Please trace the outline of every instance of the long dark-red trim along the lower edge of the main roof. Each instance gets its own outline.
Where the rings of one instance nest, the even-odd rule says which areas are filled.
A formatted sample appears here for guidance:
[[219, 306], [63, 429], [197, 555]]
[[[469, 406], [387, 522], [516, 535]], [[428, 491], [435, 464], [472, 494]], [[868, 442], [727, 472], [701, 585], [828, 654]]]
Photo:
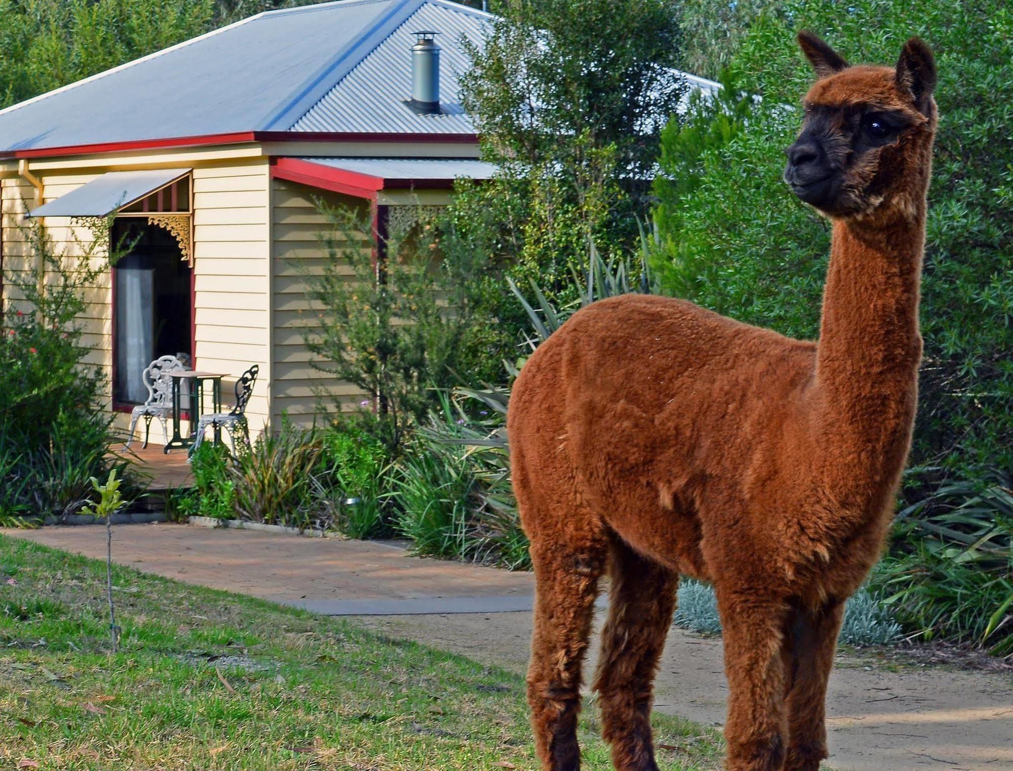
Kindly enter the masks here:
[[433, 142], [438, 144], [473, 145], [475, 134], [368, 134], [353, 132], [235, 132], [208, 134], [200, 137], [103, 142], [95, 145], [71, 145], [58, 148], [0, 151], [0, 158], [53, 158], [65, 155], [125, 153], [132, 150], [185, 148], [203, 145], [235, 145], [250, 142]]

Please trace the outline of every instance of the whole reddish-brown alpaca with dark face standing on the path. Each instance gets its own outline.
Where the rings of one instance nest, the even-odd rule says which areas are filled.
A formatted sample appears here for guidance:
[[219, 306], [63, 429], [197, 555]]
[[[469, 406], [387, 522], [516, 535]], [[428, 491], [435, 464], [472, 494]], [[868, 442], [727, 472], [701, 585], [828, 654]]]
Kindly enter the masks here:
[[580, 660], [612, 582], [595, 689], [615, 767], [652, 771], [651, 690], [679, 574], [713, 582], [731, 771], [814, 771], [845, 599], [876, 562], [908, 449], [935, 66], [820, 79], [785, 181], [833, 221], [819, 343], [663, 297], [575, 314], [525, 365], [508, 420], [538, 580], [528, 700], [542, 767], [579, 767]]

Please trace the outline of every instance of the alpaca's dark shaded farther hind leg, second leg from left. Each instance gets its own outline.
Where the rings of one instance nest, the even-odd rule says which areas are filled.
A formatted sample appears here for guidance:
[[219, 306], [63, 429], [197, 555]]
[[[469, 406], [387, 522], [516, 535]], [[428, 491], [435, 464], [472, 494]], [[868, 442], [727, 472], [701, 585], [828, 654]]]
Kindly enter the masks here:
[[676, 609], [679, 576], [615, 538], [612, 599], [595, 690], [619, 771], [657, 771], [650, 734], [654, 674]]

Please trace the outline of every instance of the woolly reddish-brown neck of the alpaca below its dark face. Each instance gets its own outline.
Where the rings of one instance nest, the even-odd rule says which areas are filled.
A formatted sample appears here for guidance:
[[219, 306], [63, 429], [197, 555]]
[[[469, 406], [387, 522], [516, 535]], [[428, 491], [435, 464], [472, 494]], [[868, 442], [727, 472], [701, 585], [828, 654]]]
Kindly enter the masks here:
[[814, 378], [819, 424], [831, 446], [886, 474], [900, 473], [915, 415], [924, 239], [924, 200], [915, 217], [885, 226], [834, 224]]

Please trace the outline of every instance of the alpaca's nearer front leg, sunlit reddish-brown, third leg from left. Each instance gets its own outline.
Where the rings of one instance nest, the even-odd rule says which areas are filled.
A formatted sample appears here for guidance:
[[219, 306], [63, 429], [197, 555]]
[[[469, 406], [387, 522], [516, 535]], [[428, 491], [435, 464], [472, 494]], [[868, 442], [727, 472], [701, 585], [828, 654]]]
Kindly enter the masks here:
[[781, 771], [787, 738], [781, 658], [787, 606], [774, 598], [722, 592], [720, 586], [717, 601], [728, 678], [727, 771]]

